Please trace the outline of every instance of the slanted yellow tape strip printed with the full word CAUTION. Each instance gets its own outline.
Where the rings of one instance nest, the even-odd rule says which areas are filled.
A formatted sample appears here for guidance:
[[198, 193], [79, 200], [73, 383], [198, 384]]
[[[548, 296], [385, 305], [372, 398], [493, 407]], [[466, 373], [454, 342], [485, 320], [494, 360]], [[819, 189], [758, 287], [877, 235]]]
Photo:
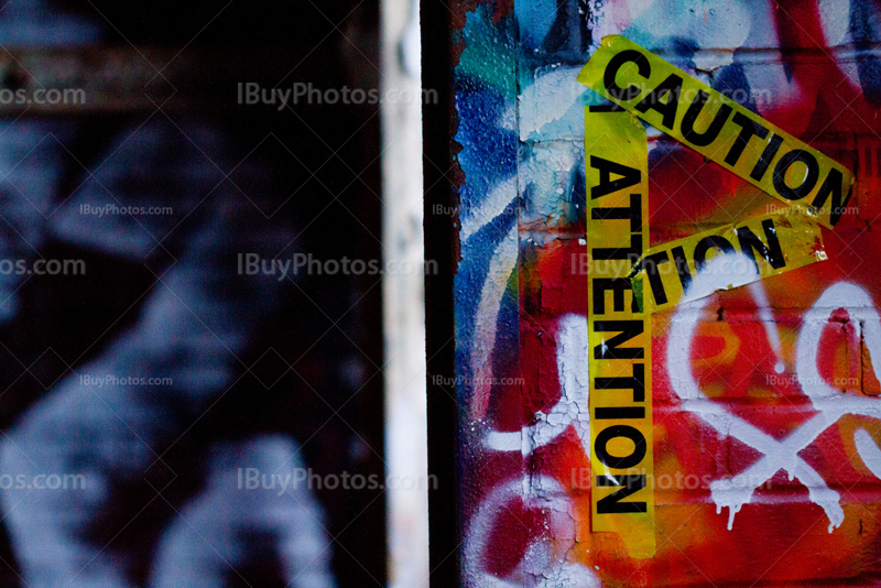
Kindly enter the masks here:
[[623, 36], [602, 37], [578, 81], [825, 226], [841, 218], [850, 171]]

